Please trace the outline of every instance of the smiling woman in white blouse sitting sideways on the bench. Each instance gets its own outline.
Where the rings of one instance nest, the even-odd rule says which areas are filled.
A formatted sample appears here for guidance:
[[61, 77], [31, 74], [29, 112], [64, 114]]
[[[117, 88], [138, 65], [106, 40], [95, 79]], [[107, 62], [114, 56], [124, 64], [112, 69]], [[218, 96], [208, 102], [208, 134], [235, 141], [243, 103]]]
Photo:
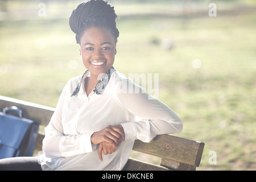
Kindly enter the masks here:
[[[116, 17], [102, 0], [81, 3], [71, 14], [69, 24], [87, 70], [65, 85], [45, 129], [43, 154], [37, 157], [43, 170], [122, 170], [136, 139], [150, 142], [183, 129], [174, 111], [113, 67]], [[31, 161], [22, 160], [24, 170]], [[0, 160], [0, 169], [8, 161]], [[15, 166], [15, 159], [10, 162]]]

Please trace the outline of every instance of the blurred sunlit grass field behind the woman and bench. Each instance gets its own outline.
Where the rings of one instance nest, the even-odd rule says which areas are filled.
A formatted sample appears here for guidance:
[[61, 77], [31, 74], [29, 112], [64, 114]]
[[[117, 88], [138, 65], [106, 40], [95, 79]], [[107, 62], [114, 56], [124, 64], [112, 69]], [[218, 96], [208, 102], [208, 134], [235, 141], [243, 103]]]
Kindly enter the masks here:
[[[68, 24], [81, 2], [0, 1], [1, 96], [56, 106], [85, 71]], [[255, 170], [256, 1], [109, 3], [120, 31], [114, 67], [159, 74], [159, 100], [184, 123], [176, 136], [205, 143], [197, 170]]]

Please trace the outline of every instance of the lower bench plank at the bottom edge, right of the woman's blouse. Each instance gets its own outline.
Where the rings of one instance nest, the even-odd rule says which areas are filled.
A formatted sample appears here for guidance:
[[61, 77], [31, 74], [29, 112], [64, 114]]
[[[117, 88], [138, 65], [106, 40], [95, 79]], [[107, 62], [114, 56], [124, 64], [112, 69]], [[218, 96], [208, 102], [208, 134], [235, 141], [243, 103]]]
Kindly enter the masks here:
[[170, 169], [129, 158], [125, 167], [123, 167], [123, 171], [170, 171]]

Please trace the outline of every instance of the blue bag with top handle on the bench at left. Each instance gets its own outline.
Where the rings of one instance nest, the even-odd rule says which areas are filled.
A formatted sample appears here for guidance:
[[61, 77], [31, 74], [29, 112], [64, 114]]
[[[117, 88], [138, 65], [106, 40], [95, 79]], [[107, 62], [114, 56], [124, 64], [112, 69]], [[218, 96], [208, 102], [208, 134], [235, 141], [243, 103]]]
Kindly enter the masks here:
[[[7, 114], [13, 111], [18, 117]], [[18, 107], [6, 107], [0, 112], [0, 159], [32, 156], [37, 137], [38, 124], [22, 118]]]

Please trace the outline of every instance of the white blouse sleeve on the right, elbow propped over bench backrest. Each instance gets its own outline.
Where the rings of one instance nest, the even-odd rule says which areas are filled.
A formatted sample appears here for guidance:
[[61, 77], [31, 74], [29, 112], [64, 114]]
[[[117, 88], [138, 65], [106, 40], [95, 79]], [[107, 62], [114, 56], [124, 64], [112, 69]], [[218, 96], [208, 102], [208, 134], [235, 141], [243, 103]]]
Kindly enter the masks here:
[[174, 111], [129, 79], [123, 79], [117, 86], [117, 100], [126, 110], [141, 118], [121, 123], [125, 140], [150, 142], [156, 135], [180, 133], [183, 129], [183, 123]]

